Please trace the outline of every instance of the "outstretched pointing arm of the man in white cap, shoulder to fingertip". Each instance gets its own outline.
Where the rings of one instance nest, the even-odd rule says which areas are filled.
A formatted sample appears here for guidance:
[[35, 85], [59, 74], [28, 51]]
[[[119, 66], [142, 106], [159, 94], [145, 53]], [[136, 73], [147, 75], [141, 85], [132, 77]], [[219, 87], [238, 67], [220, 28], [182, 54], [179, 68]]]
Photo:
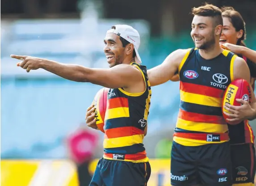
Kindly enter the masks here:
[[43, 68], [68, 80], [90, 82], [108, 88], [126, 88], [141, 79], [141, 72], [128, 64], [119, 64], [108, 69], [86, 68], [75, 64], [64, 64], [30, 56], [11, 55], [12, 58], [23, 60], [17, 65], [26, 69]]

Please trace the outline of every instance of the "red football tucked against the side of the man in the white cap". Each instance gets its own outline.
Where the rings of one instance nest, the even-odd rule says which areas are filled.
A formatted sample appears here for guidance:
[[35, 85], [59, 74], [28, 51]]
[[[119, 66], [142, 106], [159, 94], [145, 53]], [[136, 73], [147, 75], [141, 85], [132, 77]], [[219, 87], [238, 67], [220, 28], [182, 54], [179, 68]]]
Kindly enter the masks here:
[[104, 118], [107, 108], [107, 93], [109, 88], [102, 88], [94, 97], [96, 125], [100, 131], [104, 132]]

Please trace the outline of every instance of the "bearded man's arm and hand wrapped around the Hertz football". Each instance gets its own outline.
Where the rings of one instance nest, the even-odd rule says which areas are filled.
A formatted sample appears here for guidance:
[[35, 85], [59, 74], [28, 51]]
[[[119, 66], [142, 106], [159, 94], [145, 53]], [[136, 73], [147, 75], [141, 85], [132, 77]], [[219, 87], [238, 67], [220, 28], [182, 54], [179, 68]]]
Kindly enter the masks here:
[[[244, 79], [250, 84], [251, 75], [250, 70], [247, 66], [247, 63], [242, 59], [237, 57], [234, 62], [234, 80], [237, 79]], [[226, 104], [225, 108], [233, 114], [228, 114], [225, 112], [226, 115], [233, 117], [232, 119], [227, 119], [230, 121], [239, 121], [244, 119], [253, 120], [256, 118], [256, 98], [250, 85], [251, 93], [252, 93], [252, 103], [249, 105], [247, 101], [242, 99], [237, 99], [242, 106], [231, 106]]]

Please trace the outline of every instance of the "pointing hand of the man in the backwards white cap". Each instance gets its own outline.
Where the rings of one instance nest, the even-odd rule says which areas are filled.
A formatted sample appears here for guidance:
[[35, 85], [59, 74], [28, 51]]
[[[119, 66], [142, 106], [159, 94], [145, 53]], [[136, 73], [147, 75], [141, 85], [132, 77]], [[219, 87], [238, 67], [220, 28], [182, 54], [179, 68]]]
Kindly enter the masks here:
[[26, 69], [27, 72], [40, 68], [41, 62], [43, 61], [41, 58], [26, 55], [11, 55], [11, 58], [23, 60], [22, 62], [17, 63], [17, 66]]

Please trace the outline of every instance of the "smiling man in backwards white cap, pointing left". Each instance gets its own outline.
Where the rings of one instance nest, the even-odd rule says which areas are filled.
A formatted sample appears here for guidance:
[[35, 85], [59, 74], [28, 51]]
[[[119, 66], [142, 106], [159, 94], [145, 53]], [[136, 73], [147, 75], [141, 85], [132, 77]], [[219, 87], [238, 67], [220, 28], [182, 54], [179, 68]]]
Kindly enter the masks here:
[[104, 155], [99, 160], [90, 186], [146, 185], [151, 169], [143, 146], [147, 131], [151, 89], [145, 66], [139, 65], [140, 35], [128, 25], [115, 25], [107, 31], [104, 52], [109, 69], [30, 56], [11, 55], [23, 60], [26, 69], [43, 68], [68, 80], [90, 82], [110, 88], [105, 114]]

